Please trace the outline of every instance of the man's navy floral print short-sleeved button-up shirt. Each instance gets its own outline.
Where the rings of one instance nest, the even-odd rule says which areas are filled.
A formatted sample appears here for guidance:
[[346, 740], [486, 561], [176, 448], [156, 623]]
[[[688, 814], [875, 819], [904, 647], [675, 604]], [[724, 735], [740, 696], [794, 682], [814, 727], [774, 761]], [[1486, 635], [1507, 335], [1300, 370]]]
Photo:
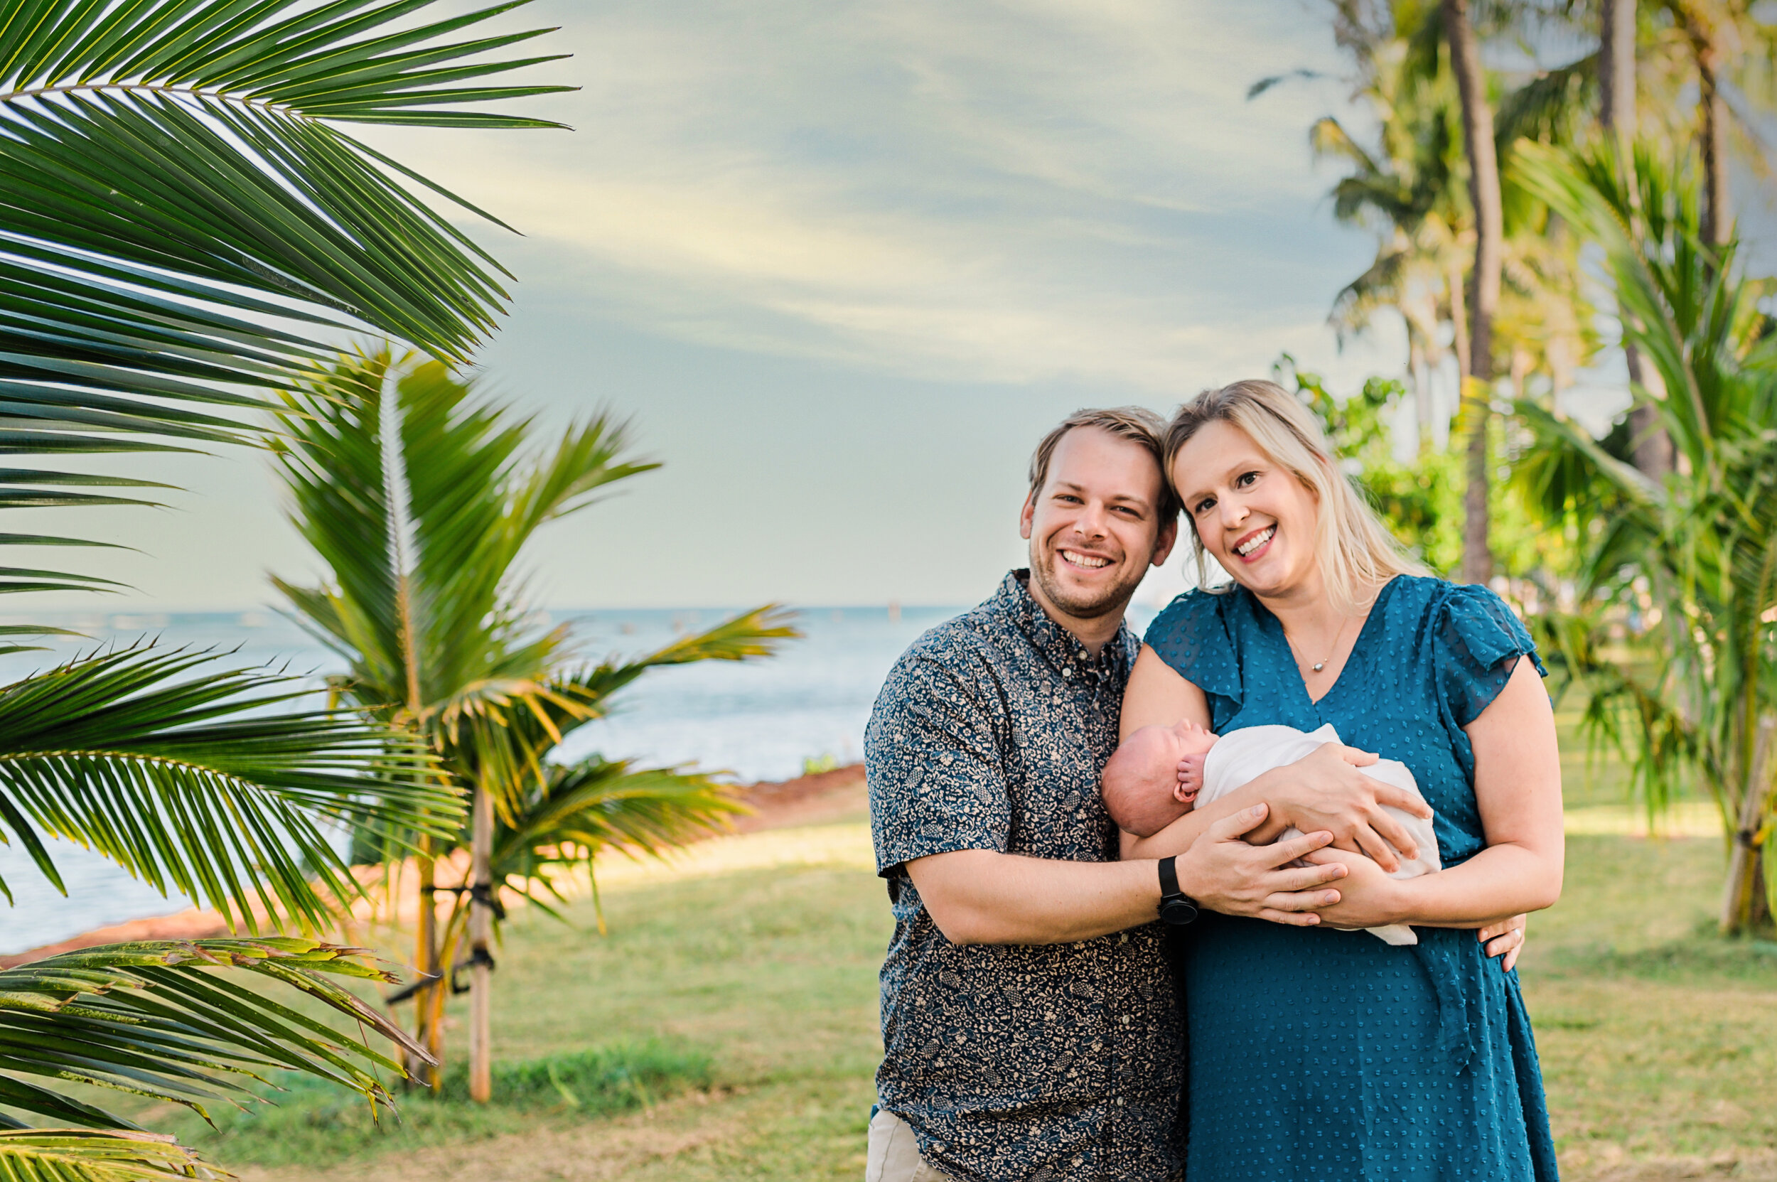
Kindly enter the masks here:
[[876, 1091], [920, 1154], [968, 1182], [1178, 1171], [1182, 1022], [1159, 924], [1048, 946], [951, 944], [903, 864], [952, 850], [1107, 862], [1098, 777], [1136, 658], [1095, 659], [1006, 576], [888, 674], [864, 757], [894, 938], [881, 970]]

